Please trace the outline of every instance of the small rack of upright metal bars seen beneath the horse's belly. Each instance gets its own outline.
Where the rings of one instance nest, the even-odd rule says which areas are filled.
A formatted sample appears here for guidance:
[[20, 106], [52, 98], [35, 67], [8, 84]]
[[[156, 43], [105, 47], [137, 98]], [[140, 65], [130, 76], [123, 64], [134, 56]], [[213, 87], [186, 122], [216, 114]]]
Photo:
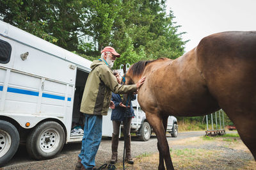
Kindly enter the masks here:
[[[215, 114], [215, 123], [214, 123], [213, 116], [212, 116], [213, 114]], [[210, 118], [208, 118], [208, 116]], [[211, 129], [209, 127], [209, 123], [211, 123]], [[216, 111], [214, 113], [206, 115], [206, 125], [207, 125], [207, 130], [205, 131], [205, 133], [206, 133], [205, 135], [223, 135], [223, 134], [225, 134], [224, 111], [222, 109], [220, 109], [219, 111]]]

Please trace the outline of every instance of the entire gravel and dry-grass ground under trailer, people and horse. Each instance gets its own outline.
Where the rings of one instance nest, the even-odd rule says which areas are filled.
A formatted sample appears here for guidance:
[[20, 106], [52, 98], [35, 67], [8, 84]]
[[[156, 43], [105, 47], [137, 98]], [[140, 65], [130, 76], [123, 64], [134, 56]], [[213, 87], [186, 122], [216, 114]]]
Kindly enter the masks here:
[[[96, 167], [109, 163], [109, 142], [102, 141], [96, 156]], [[255, 160], [239, 137], [205, 140], [201, 137], [168, 141], [175, 169], [256, 169]], [[122, 166], [122, 142], [118, 147], [117, 169]], [[136, 152], [140, 150], [139, 152]], [[141, 152], [143, 150], [143, 152]], [[74, 169], [79, 150], [62, 154], [51, 160], [16, 164], [3, 169]], [[125, 164], [125, 169], [157, 169], [158, 151], [156, 139], [147, 143], [132, 141], [134, 165]]]

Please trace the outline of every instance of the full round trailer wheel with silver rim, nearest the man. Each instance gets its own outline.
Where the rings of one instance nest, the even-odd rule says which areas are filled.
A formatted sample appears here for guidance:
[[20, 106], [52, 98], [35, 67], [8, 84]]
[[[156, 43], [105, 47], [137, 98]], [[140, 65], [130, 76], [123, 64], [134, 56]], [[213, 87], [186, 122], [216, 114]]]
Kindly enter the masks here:
[[53, 158], [63, 148], [65, 132], [59, 123], [45, 121], [29, 134], [26, 147], [31, 157], [37, 160]]

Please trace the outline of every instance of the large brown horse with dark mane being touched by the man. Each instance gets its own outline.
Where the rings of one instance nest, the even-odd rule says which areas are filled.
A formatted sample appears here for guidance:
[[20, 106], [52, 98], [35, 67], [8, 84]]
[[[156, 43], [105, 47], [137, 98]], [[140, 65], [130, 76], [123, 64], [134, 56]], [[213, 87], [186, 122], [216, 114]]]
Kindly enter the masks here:
[[145, 76], [138, 102], [157, 135], [158, 169], [173, 169], [166, 140], [169, 115], [202, 116], [223, 109], [256, 158], [256, 31], [203, 38], [177, 59], [140, 61], [125, 84]]

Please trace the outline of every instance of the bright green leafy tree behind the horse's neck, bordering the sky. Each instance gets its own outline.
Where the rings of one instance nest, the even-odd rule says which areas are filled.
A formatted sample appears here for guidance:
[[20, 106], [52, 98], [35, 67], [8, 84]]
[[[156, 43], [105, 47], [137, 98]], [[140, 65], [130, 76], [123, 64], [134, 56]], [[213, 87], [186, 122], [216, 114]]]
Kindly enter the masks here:
[[[177, 58], [184, 54], [184, 45], [174, 26], [173, 13], [166, 15], [165, 1], [122, 1], [113, 26], [111, 44], [122, 55], [115, 64], [130, 64], [141, 59]], [[129, 41], [126, 39], [129, 38]], [[130, 49], [131, 52], [129, 52]], [[130, 54], [129, 54], [130, 53]]]

